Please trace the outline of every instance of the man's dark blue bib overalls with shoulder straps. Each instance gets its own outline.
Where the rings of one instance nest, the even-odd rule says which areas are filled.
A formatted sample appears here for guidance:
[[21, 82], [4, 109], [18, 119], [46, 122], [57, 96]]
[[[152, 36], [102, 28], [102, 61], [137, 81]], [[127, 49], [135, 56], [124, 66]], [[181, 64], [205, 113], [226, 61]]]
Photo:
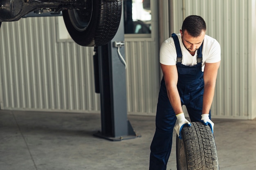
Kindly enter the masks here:
[[[177, 35], [173, 33], [172, 37], [177, 52], [177, 88], [181, 104], [186, 106], [191, 121], [201, 121], [204, 93], [202, 45], [197, 53], [198, 64], [195, 66], [185, 66], [181, 64], [182, 52]], [[209, 118], [211, 119], [211, 111], [209, 112]], [[171, 154], [175, 122], [176, 116], [167, 96], [164, 78], [162, 78], [155, 120], [156, 130], [150, 146], [149, 170], [166, 170]]]

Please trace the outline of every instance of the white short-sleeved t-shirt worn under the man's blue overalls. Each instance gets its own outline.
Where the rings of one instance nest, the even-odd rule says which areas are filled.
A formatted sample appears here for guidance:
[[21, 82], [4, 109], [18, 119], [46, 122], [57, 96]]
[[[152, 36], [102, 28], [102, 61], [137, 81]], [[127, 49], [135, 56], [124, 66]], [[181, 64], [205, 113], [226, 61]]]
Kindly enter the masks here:
[[[197, 64], [197, 51], [192, 56], [182, 43], [181, 35], [177, 34], [180, 41], [180, 48], [182, 51], [182, 64], [185, 66], [194, 66]], [[173, 38], [165, 40], [160, 48], [160, 63], [164, 65], [175, 65], [177, 60], [177, 53]], [[220, 44], [214, 38], [208, 35], [204, 36], [202, 48], [202, 71], [204, 71], [205, 63], [215, 63], [220, 61]]]

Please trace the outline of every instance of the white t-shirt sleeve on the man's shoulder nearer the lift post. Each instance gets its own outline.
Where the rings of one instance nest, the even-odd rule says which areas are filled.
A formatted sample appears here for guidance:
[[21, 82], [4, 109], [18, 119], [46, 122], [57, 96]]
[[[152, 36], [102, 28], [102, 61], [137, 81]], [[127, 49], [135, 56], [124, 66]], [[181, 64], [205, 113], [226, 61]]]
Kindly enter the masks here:
[[175, 65], [176, 64], [176, 49], [175, 46], [170, 45], [167, 41], [164, 41], [160, 48], [159, 61], [164, 65]]

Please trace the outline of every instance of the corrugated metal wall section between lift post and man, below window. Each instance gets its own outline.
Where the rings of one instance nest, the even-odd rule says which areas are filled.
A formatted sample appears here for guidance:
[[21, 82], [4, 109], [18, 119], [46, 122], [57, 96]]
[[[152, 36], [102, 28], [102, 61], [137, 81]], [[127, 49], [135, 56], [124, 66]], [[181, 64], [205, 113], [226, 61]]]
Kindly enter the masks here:
[[126, 41], [128, 112], [155, 115], [159, 92], [157, 42]]

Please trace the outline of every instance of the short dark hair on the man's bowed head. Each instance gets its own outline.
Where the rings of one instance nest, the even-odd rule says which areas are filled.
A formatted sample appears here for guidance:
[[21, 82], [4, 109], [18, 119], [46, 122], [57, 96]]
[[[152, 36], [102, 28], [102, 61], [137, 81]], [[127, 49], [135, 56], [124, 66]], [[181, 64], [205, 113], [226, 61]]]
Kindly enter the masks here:
[[204, 19], [198, 15], [189, 15], [185, 18], [182, 24], [182, 33], [185, 30], [193, 37], [200, 36], [202, 30], [206, 31]]

